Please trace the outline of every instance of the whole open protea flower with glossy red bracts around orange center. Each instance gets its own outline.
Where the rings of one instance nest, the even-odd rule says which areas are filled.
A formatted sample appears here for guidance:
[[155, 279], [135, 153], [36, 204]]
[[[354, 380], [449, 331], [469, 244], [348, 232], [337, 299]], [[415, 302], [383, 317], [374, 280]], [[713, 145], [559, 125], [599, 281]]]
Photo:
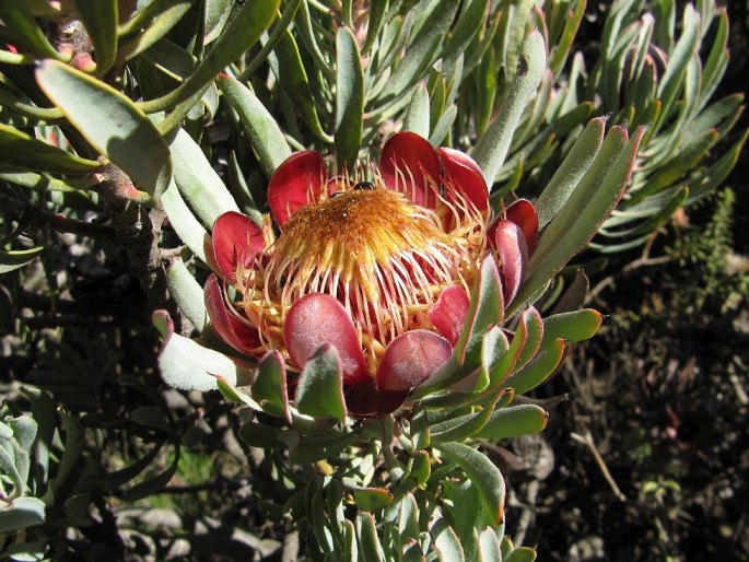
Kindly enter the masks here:
[[270, 180], [262, 226], [236, 212], [213, 226], [214, 267], [239, 298], [206, 284], [211, 323], [236, 350], [278, 350], [301, 371], [336, 348], [349, 412], [383, 414], [449, 358], [488, 251], [505, 303], [536, 242], [534, 207], [494, 218], [468, 155], [434, 150], [412, 132], [391, 137], [379, 167], [330, 177], [318, 152], [292, 154]]

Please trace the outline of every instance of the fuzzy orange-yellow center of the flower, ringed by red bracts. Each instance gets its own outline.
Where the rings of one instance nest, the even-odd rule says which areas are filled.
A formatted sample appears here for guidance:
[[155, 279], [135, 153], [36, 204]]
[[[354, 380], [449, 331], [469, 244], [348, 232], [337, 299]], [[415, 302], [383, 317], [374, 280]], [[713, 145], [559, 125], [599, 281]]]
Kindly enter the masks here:
[[[476, 219], [447, 233], [434, 211], [401, 194], [382, 185], [347, 187], [284, 223], [245, 276], [245, 312], [269, 348], [283, 349], [291, 305], [305, 294], [330, 294], [350, 314], [374, 372], [393, 339], [431, 326], [426, 313], [442, 289], [468, 289], [483, 251], [483, 222]], [[471, 227], [480, 244], [466, 236]]]

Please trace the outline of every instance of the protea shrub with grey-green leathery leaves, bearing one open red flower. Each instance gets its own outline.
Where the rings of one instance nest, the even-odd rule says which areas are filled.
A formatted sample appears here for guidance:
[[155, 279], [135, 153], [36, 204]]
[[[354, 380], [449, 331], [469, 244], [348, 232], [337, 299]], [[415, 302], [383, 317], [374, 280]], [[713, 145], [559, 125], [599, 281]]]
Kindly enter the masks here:
[[[522, 395], [600, 325], [560, 272], [620, 199], [639, 243], [740, 148], [698, 166], [739, 112], [690, 96], [725, 13], [689, 7], [674, 47], [674, 3], [639, 33], [641, 4], [584, 87], [582, 0], [3, 2], [0, 178], [122, 247], [163, 382], [236, 402], [313, 559], [531, 560], [481, 444], [541, 431]], [[653, 160], [692, 121], [697, 160]], [[2, 272], [44, 250], [27, 230]]]

